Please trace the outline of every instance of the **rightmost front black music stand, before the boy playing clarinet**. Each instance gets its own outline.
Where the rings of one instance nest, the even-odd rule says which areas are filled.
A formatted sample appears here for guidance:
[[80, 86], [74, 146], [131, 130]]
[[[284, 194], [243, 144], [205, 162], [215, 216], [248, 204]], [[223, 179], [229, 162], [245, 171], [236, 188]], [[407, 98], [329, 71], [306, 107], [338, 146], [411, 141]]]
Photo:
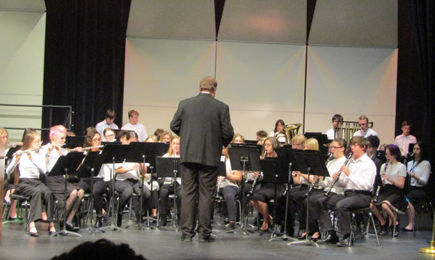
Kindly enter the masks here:
[[[326, 168], [324, 161], [322, 160], [322, 155], [319, 151], [305, 150], [305, 151], [293, 151], [294, 158], [299, 164], [301, 172], [306, 172], [308, 174], [308, 180], [310, 175], [317, 175], [320, 177], [329, 177], [329, 171]], [[306, 169], [306, 171], [304, 171]], [[308, 216], [309, 216], [309, 204], [310, 204], [310, 185], [308, 185], [306, 193], [306, 232], [307, 236], [305, 240], [294, 241], [287, 243], [287, 245], [313, 245], [319, 247], [317, 243], [308, 238]], [[299, 227], [300, 229], [301, 227]]]

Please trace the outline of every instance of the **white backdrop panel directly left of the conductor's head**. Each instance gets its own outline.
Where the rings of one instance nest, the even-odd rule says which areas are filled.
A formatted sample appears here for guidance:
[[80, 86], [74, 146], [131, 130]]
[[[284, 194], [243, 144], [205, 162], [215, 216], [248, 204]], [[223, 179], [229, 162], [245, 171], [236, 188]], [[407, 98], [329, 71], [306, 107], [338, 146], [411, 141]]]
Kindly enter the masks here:
[[167, 130], [178, 102], [214, 75], [215, 52], [214, 41], [127, 38], [122, 123], [135, 109], [148, 133]]

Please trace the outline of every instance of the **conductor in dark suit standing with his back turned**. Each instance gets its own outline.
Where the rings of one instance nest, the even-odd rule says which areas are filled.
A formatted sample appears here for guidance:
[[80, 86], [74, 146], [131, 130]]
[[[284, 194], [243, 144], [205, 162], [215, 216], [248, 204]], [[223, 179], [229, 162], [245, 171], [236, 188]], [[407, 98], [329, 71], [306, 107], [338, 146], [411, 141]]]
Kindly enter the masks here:
[[183, 183], [180, 239], [186, 242], [191, 242], [195, 236], [198, 192], [199, 242], [214, 240], [211, 219], [221, 151], [234, 135], [228, 105], [214, 98], [216, 88], [213, 77], [203, 78], [200, 93], [180, 101], [171, 121], [171, 130], [180, 135]]

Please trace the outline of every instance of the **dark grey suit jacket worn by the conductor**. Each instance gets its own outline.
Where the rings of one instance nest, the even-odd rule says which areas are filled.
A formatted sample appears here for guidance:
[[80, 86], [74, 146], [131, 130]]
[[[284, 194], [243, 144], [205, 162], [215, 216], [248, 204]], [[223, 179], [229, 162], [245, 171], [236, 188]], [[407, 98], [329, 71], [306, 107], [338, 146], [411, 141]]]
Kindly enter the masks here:
[[212, 167], [219, 167], [222, 145], [230, 144], [234, 135], [228, 105], [209, 93], [181, 100], [171, 130], [180, 135], [181, 163]]

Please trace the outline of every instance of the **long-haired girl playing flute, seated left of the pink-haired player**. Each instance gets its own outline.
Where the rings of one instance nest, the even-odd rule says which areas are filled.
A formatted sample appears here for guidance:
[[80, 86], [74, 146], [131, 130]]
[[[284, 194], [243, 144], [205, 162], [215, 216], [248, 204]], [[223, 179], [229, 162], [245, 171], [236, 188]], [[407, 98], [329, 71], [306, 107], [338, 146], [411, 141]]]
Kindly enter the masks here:
[[9, 175], [18, 167], [19, 181], [15, 193], [31, 197], [28, 227], [30, 236], [39, 236], [35, 222], [41, 220], [43, 206], [49, 221], [49, 234], [56, 232], [53, 222], [54, 197], [52, 191], [40, 179], [40, 174], [45, 174], [47, 171], [45, 158], [39, 151], [35, 151], [39, 150], [40, 146], [41, 137], [38, 132], [25, 134], [22, 147], [6, 169], [6, 174]]

